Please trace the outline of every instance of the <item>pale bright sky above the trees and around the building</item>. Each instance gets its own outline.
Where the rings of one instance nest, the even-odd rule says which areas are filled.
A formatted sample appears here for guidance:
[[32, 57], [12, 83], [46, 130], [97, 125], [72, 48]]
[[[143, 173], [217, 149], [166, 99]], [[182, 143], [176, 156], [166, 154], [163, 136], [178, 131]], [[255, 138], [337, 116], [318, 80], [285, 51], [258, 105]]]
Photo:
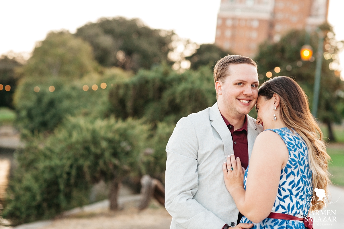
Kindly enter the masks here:
[[[214, 43], [221, 0], [11, 0], [0, 7], [0, 54], [30, 53], [49, 31], [74, 33], [101, 17], [140, 18], [155, 29], [174, 30], [198, 44]], [[328, 21], [344, 40], [344, 0], [330, 0]], [[340, 55], [344, 70], [344, 52]], [[344, 71], [342, 71], [344, 80]]]

